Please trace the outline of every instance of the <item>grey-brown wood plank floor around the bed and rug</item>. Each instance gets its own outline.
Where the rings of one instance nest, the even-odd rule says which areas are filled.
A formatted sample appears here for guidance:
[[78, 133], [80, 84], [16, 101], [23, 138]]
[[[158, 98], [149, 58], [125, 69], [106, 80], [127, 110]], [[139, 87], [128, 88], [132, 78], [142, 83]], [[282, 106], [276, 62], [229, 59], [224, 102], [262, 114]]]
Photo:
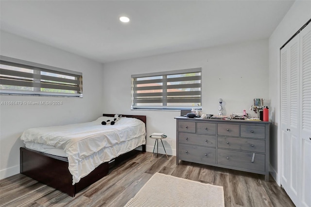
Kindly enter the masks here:
[[175, 156], [167, 159], [165, 155], [159, 155], [151, 162], [151, 155], [141, 153], [122, 165], [114, 166], [107, 176], [80, 191], [74, 198], [22, 174], [2, 179], [0, 206], [122, 207], [154, 173], [159, 172], [223, 186], [226, 207], [294, 207], [273, 178], [265, 182], [263, 175], [185, 161], [176, 165]]

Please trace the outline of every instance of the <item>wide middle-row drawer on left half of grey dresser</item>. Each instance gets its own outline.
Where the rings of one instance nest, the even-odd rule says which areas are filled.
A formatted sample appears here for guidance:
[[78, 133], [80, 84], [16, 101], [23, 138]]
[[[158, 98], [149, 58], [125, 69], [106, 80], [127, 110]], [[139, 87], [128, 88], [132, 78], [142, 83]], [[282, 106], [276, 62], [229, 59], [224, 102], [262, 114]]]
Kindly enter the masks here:
[[204, 147], [216, 147], [216, 136], [198, 134], [178, 134], [179, 143], [196, 144]]

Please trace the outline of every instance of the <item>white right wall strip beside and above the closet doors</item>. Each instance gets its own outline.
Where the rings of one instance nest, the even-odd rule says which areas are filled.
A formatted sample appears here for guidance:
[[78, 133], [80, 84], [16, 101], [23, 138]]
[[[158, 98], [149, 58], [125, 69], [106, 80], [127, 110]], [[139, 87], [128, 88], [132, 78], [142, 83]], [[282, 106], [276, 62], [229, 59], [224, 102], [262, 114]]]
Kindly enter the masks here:
[[294, 2], [291, 9], [282, 19], [276, 30], [269, 38], [269, 93], [271, 99], [271, 118], [272, 137], [270, 150], [270, 165], [272, 175], [274, 176], [278, 185], [280, 185], [280, 131], [278, 126], [280, 124], [280, 48], [285, 42], [293, 36], [309, 19], [311, 18], [311, 1], [297, 0]]

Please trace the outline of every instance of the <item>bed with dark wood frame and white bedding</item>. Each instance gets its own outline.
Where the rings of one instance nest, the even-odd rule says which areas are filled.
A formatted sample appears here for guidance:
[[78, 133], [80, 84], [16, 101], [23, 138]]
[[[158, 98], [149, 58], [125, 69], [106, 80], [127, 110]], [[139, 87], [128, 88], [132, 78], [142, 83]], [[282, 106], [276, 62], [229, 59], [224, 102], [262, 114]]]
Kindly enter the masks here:
[[[91, 131], [83, 131], [84, 125], [68, 125], [70, 132], [74, 127], [77, 127], [77, 133], [75, 134], [78, 135], [78, 138], [74, 137], [74, 141], [72, 141], [72, 139], [69, 139], [71, 135], [66, 134], [67, 131], [66, 133], [63, 133], [64, 136], [60, 136], [60, 133], [56, 133], [55, 136], [55, 133], [53, 133], [54, 137], [52, 137], [51, 134], [49, 134], [49, 130], [55, 131], [55, 128], [53, 127], [46, 127], [43, 129], [31, 129], [30, 131], [26, 130], [21, 136], [21, 139], [24, 140], [25, 143], [33, 141], [34, 137], [38, 137], [34, 142], [42, 142], [40, 144], [51, 144], [55, 148], [63, 148], [65, 156], [59, 155], [57, 153], [48, 154], [50, 153], [50, 151], [48, 153], [46, 151], [39, 152], [36, 150], [35, 147], [29, 147], [31, 145], [29, 145], [28, 143], [26, 144], [26, 147], [28, 146], [30, 149], [26, 147], [20, 148], [20, 173], [25, 174], [41, 183], [49, 185], [74, 197], [77, 192], [83, 190], [87, 186], [93, 184], [94, 182], [98, 181], [106, 174], [108, 174], [109, 163], [111, 163], [112, 161], [120, 162], [123, 157], [127, 158], [129, 154], [135, 154], [137, 152], [137, 150], [135, 149], [138, 146], [142, 147], [142, 151], [138, 152], [146, 152], [146, 116], [121, 115], [122, 118], [119, 121], [116, 121], [113, 126], [105, 126], [99, 122], [104, 120], [105, 117], [111, 117], [111, 119], [113, 120], [114, 116], [114, 114], [103, 114], [103, 117], [101, 119], [99, 118], [99, 120], [96, 120], [96, 124], [93, 123], [94, 121], [87, 122], [86, 124], [91, 124]], [[119, 130], [118, 127], [121, 127], [121, 124], [129, 123], [129, 118], [136, 118], [131, 120], [134, 120], [136, 125], [140, 128], [141, 125], [143, 125], [144, 133], [143, 131], [140, 132], [140, 128], [138, 130], [134, 127], [123, 126], [123, 128], [129, 128], [126, 130], [129, 130], [130, 132], [123, 132], [122, 128]], [[67, 128], [66, 130], [68, 130]], [[121, 145], [121, 148], [114, 147], [114, 144], [111, 144], [111, 142], [115, 142], [113, 141], [114, 139], [110, 139], [109, 136], [106, 134], [102, 135], [102, 132], [97, 131], [99, 128], [105, 128], [105, 130], [108, 131], [109, 136], [111, 136], [112, 134], [116, 135], [118, 140], [116, 141], [117, 145]], [[44, 136], [46, 136], [45, 139], [43, 139]], [[137, 141], [138, 136], [139, 141]], [[59, 139], [60, 137], [62, 137], [62, 139]], [[104, 137], [105, 140], [105, 142], [103, 142], [104, 148], [94, 150], [94, 147], [99, 148], [97, 146], [102, 144], [98, 142], [99, 140], [101, 140], [101, 137]], [[95, 144], [93, 143], [87, 145], [86, 139], [92, 139], [93, 141], [95, 140]], [[132, 140], [134, 140], [134, 142]], [[127, 143], [129, 141], [131, 141], [130, 144]], [[73, 148], [72, 146], [78, 147], [80, 151], [77, 151], [76, 148]], [[94, 154], [90, 155], [88, 152], [88, 148], [91, 148], [91, 150], [94, 151]], [[81, 149], [85, 151], [81, 151]], [[106, 152], [113, 151], [115, 152], [111, 155], [108, 153], [108, 155], [106, 156]], [[71, 154], [72, 152], [73, 155]], [[73, 163], [72, 157], [78, 157], [78, 161], [74, 161], [77, 163]], [[84, 159], [86, 159], [85, 162]], [[74, 167], [73, 170], [72, 167]], [[92, 169], [92, 167], [94, 169]], [[75, 170], [78, 171], [77, 174]], [[82, 173], [80, 172], [80, 170]]]

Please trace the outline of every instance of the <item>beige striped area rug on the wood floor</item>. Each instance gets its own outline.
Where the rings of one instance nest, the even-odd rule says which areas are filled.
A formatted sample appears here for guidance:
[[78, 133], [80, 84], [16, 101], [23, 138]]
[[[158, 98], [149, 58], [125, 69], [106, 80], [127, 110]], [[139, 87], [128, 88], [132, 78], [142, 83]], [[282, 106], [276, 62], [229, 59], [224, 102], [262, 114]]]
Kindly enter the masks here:
[[224, 207], [224, 188], [155, 173], [125, 207]]

